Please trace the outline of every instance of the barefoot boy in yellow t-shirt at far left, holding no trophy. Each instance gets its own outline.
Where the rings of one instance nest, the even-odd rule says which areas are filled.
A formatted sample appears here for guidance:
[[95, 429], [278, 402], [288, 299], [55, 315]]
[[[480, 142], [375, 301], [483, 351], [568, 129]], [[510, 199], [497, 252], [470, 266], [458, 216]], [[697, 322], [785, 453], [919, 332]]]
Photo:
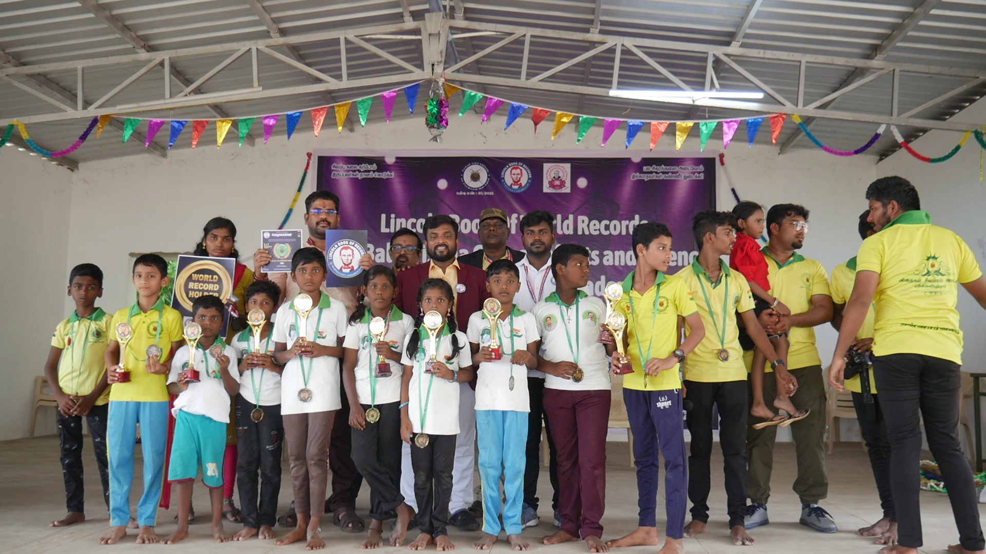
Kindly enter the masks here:
[[109, 389], [106, 388], [106, 363], [103, 354], [109, 342], [112, 318], [96, 299], [103, 296], [103, 271], [92, 263], [72, 268], [68, 278], [68, 296], [75, 302], [75, 312], [58, 323], [51, 337], [51, 351], [44, 364], [44, 377], [58, 401], [58, 445], [62, 477], [65, 479], [63, 519], [51, 521], [61, 527], [85, 521], [85, 489], [82, 470], [82, 418], [89, 423], [93, 453], [100, 469], [103, 497], [109, 506], [109, 474], [106, 470], [106, 415]]

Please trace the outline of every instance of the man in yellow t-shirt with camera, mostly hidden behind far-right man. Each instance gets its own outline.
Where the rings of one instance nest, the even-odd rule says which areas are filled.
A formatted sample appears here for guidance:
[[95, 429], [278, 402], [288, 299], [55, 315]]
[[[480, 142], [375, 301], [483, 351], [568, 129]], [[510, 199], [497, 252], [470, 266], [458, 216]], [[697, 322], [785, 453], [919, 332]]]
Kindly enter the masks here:
[[[859, 232], [865, 241], [875, 234], [877, 229], [868, 221], [870, 210], [860, 214]], [[842, 312], [846, 302], [853, 293], [853, 283], [856, 281], [856, 256], [849, 261], [840, 263], [832, 270], [832, 326], [839, 330], [842, 324]], [[856, 333], [853, 348], [869, 358], [873, 348], [873, 307], [866, 313], [863, 326]], [[880, 508], [883, 517], [876, 523], [862, 527], [856, 532], [863, 536], [876, 536], [878, 544], [893, 544], [897, 539], [897, 518], [893, 510], [893, 494], [890, 491], [890, 442], [886, 437], [886, 422], [880, 413], [880, 401], [877, 398], [877, 385], [873, 380], [873, 372], [868, 367], [859, 375], [845, 381], [845, 387], [853, 393], [853, 407], [856, 408], [856, 420], [860, 424], [860, 434], [870, 454], [870, 467], [877, 482], [877, 493], [880, 496]]]

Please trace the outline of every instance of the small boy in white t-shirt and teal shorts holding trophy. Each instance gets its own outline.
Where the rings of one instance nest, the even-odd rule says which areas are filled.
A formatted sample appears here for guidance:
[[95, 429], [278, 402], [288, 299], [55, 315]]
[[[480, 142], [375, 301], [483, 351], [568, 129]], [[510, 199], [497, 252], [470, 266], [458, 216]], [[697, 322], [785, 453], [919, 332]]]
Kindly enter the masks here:
[[[223, 530], [223, 455], [226, 452], [226, 426], [230, 423], [230, 396], [240, 389], [237, 353], [219, 333], [223, 330], [226, 307], [219, 297], [203, 295], [191, 306], [192, 320], [202, 328], [195, 352], [182, 346], [172, 359], [168, 392], [177, 394], [172, 415], [175, 437], [168, 466], [168, 480], [176, 483], [178, 528], [166, 538], [175, 544], [188, 537], [191, 488], [202, 468], [202, 482], [209, 487], [212, 502], [212, 536], [216, 542], [232, 537]], [[185, 380], [189, 358], [199, 372], [199, 381]]]

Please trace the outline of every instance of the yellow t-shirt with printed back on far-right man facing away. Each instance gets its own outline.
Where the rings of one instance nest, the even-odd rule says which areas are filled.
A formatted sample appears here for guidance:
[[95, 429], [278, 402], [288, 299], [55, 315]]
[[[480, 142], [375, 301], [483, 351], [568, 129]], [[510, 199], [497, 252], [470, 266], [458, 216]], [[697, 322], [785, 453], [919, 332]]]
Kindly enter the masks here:
[[921, 354], [962, 363], [958, 284], [982, 277], [969, 246], [931, 224], [921, 210], [904, 212], [860, 246], [856, 271], [880, 274], [873, 352]]

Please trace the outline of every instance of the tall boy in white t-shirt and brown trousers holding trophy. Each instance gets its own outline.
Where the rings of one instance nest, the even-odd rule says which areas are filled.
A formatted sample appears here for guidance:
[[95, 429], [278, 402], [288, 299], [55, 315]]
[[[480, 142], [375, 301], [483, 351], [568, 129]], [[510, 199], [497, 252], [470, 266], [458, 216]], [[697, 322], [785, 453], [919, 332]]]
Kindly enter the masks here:
[[328, 438], [335, 410], [342, 405], [339, 358], [346, 333], [346, 309], [320, 291], [325, 281], [325, 255], [318, 248], [295, 252], [291, 278], [301, 289], [298, 296], [311, 297], [314, 308], [304, 329], [294, 308], [298, 296], [282, 304], [274, 315], [274, 361], [284, 364], [281, 418], [298, 515], [298, 526], [277, 539], [277, 544], [307, 539], [306, 548], [317, 550], [325, 547], [318, 525], [325, 510]]

